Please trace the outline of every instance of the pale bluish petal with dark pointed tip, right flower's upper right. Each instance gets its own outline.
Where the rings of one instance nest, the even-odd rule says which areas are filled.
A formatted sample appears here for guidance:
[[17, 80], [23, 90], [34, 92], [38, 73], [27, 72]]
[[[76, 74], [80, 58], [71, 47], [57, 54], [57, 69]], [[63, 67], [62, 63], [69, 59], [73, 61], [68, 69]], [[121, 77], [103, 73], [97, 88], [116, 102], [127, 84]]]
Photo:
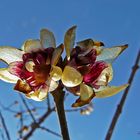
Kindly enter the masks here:
[[101, 54], [99, 54], [97, 56], [96, 61], [106, 61], [109, 63], [112, 63], [126, 48], [128, 47], [128, 45], [124, 45], [124, 46], [116, 46], [116, 47], [112, 47], [112, 48], [104, 48], [101, 52]]

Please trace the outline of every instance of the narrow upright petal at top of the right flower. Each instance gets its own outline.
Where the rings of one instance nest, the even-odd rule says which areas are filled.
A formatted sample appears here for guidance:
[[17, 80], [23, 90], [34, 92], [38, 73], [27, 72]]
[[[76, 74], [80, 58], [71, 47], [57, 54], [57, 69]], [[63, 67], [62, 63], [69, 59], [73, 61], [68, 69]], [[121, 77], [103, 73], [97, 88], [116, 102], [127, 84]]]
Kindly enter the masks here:
[[75, 43], [75, 30], [76, 26], [71, 27], [66, 33], [64, 37], [64, 46], [66, 50], [67, 59], [70, 59], [70, 52], [74, 47]]

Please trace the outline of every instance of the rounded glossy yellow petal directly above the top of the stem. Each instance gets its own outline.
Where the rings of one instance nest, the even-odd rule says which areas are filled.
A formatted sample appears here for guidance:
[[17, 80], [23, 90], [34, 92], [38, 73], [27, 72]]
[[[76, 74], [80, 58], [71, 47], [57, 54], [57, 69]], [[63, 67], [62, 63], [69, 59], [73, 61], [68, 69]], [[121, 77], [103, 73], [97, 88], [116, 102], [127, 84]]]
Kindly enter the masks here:
[[62, 74], [62, 82], [67, 87], [78, 86], [83, 80], [82, 75], [73, 67], [66, 66]]

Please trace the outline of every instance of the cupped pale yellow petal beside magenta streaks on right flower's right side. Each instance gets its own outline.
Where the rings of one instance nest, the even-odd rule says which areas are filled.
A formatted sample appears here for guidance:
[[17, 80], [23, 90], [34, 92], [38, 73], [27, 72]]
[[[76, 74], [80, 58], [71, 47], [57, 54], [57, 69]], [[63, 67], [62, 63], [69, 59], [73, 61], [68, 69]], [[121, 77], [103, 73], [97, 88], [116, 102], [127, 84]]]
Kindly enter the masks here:
[[96, 85], [106, 86], [113, 78], [113, 69], [112, 65], [108, 64], [108, 67], [105, 68], [98, 78]]

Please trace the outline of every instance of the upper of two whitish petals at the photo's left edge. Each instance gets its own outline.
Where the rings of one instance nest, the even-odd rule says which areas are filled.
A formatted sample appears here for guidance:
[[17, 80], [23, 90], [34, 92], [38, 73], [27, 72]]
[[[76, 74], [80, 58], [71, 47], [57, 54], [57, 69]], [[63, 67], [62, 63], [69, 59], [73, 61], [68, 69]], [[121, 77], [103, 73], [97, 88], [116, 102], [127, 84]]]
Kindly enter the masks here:
[[22, 61], [23, 51], [12, 47], [0, 47], [0, 60], [7, 64], [14, 61]]

